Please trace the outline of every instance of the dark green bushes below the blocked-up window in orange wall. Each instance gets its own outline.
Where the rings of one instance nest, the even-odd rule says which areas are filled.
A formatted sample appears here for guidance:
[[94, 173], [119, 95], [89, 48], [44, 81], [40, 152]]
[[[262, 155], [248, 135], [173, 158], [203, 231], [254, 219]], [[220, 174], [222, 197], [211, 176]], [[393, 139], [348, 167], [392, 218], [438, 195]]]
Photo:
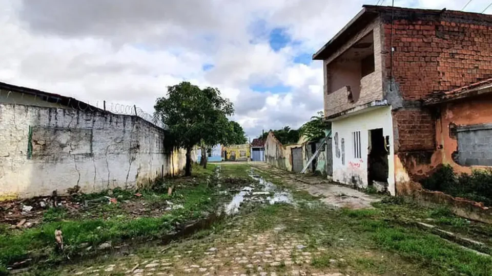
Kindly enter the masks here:
[[421, 181], [422, 187], [431, 191], [483, 202], [492, 206], [492, 170], [474, 170], [471, 174], [457, 174], [449, 165], [438, 169]]

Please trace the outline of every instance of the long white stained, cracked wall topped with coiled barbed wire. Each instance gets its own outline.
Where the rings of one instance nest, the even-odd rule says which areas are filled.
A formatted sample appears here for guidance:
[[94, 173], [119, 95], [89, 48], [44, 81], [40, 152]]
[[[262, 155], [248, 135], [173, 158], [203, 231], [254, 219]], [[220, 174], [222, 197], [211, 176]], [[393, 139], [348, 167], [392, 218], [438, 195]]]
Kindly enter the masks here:
[[145, 186], [177, 174], [183, 150], [166, 153], [164, 130], [134, 116], [0, 104], [0, 197]]

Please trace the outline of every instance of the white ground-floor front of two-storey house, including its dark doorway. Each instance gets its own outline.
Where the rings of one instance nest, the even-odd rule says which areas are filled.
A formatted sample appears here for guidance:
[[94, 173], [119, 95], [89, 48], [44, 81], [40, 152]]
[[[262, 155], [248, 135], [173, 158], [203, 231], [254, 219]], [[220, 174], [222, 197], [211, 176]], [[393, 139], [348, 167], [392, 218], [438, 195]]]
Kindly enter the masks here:
[[374, 180], [395, 190], [391, 107], [338, 117], [332, 121], [332, 135], [334, 181], [366, 188]]

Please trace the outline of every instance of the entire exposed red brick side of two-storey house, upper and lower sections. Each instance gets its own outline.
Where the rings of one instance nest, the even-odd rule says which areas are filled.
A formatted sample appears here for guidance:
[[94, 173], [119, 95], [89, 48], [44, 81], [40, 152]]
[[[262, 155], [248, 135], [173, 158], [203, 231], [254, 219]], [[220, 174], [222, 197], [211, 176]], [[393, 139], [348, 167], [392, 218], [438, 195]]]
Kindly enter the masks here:
[[[462, 12], [396, 9], [381, 13], [383, 76], [403, 107], [393, 112], [395, 152], [433, 151], [435, 120], [420, 101], [433, 93], [492, 77], [492, 16]], [[391, 93], [391, 92], [388, 92]]]

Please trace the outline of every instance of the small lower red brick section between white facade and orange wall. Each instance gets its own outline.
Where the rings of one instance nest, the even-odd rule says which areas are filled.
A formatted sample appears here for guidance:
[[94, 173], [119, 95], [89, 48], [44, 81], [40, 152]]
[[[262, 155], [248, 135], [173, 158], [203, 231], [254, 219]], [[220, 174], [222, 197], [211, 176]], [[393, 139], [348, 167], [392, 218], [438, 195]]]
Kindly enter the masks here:
[[393, 120], [398, 124], [398, 144], [395, 145], [395, 152], [435, 149], [435, 121], [428, 111], [395, 110]]

